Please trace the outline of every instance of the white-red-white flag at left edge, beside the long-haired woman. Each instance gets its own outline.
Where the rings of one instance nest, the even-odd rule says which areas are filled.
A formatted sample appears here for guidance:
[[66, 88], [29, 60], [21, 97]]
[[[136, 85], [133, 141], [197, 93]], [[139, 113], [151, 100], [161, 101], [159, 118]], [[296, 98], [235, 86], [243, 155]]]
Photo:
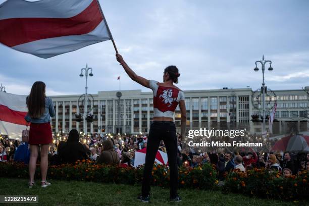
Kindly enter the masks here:
[[10, 139], [21, 140], [26, 128], [27, 105], [25, 95], [0, 92], [0, 133]]

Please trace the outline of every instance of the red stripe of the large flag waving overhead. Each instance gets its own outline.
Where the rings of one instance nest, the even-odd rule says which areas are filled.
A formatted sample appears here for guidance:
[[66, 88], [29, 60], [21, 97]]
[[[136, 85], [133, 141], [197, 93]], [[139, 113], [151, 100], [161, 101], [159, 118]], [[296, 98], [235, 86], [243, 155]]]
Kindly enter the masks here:
[[45, 38], [91, 32], [103, 20], [96, 0], [71, 18], [13, 18], [0, 20], [0, 42], [16, 46]]

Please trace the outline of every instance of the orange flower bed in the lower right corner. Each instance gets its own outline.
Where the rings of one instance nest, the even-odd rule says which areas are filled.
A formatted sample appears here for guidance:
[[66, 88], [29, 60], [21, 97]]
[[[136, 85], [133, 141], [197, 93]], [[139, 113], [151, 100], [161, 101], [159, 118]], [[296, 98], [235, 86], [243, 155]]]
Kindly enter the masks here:
[[254, 168], [246, 173], [234, 170], [226, 177], [224, 190], [262, 198], [305, 199], [309, 194], [308, 181], [306, 171], [285, 178], [265, 169]]

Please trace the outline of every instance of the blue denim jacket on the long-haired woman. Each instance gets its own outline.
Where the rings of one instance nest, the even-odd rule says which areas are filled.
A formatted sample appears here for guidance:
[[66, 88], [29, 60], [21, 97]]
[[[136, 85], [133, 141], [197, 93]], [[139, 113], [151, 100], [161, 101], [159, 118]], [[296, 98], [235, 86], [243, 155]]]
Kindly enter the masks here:
[[31, 118], [28, 114], [25, 116], [25, 120], [31, 123], [46, 123], [50, 122], [50, 117], [55, 117], [55, 109], [53, 106], [53, 101], [49, 97], [45, 97], [45, 112], [40, 118]]

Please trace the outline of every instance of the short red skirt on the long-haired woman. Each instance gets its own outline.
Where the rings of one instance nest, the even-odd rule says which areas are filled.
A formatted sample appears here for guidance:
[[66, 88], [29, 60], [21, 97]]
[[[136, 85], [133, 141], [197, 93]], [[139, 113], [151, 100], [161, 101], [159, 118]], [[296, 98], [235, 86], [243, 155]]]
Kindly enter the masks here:
[[29, 144], [50, 144], [53, 143], [52, 127], [50, 122], [30, 124]]

